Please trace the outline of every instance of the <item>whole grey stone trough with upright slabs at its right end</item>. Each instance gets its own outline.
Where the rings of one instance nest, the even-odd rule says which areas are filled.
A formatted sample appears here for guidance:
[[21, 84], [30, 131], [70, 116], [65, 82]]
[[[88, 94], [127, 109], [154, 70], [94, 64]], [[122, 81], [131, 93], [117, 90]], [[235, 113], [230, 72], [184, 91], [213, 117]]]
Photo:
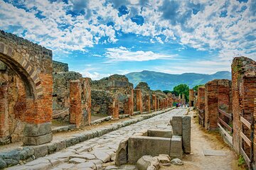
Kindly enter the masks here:
[[120, 142], [115, 164], [136, 164], [144, 155], [165, 154], [171, 159], [182, 159], [183, 153], [191, 152], [191, 117], [174, 116], [170, 125], [163, 130], [142, 130]]

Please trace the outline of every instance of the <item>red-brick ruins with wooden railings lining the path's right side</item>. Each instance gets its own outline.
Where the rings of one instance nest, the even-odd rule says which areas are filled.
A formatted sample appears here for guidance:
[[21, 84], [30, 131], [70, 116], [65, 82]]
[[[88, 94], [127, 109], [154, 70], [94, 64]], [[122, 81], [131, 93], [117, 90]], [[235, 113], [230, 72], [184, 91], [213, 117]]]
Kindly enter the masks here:
[[235, 57], [231, 68], [232, 81], [215, 79], [198, 88], [199, 124], [207, 130], [220, 130], [223, 140], [241, 154], [252, 169], [256, 161], [256, 62]]

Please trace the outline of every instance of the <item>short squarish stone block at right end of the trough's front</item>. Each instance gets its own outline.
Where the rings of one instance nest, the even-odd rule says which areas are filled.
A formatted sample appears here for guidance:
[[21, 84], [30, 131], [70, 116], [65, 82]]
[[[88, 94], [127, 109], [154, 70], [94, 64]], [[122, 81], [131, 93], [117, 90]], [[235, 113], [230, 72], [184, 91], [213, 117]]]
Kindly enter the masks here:
[[[161, 146], [161, 145], [160, 145]], [[173, 136], [171, 138], [171, 148], [170, 148], [170, 157], [182, 159], [182, 137], [181, 136]]]

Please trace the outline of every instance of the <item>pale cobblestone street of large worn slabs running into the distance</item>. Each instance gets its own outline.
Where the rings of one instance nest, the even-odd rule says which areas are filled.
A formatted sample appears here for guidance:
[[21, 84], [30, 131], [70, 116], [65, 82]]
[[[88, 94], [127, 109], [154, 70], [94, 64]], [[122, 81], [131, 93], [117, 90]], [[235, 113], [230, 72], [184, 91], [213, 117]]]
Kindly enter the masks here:
[[[120, 141], [144, 129], [170, 128], [168, 126], [170, 118], [173, 115], [183, 115], [186, 112], [186, 109], [174, 109], [9, 169], [102, 169], [105, 168], [102, 167], [102, 164], [114, 161]], [[106, 167], [106, 169], [112, 168], [112, 166]], [[120, 168], [134, 169], [135, 167], [126, 165]]]

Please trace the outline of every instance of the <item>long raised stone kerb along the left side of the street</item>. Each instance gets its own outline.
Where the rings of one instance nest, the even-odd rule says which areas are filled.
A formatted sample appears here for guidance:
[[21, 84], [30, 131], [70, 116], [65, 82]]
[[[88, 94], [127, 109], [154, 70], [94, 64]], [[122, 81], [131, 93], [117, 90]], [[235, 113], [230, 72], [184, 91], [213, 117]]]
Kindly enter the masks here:
[[26, 162], [31, 162], [39, 157], [45, 157], [47, 154], [53, 154], [54, 152], [59, 152], [62, 149], [71, 147], [78, 144], [79, 142], [84, 142], [85, 140], [90, 140], [95, 137], [100, 137], [108, 132], [118, 130], [127, 125], [132, 125], [138, 123], [142, 120], [153, 118], [156, 115], [166, 113], [174, 108], [166, 108], [165, 110], [155, 111], [149, 114], [142, 114], [137, 118], [132, 118], [130, 120], [124, 120], [119, 123], [114, 123], [112, 125], [107, 125], [106, 127], [95, 128], [94, 130], [87, 130], [85, 132], [79, 131], [77, 134], [67, 137], [62, 140], [53, 140], [50, 143], [38, 145], [38, 146], [26, 146], [18, 147], [12, 149], [9, 152], [0, 152], [0, 169], [6, 166], [14, 166], [17, 164], [24, 164]]

